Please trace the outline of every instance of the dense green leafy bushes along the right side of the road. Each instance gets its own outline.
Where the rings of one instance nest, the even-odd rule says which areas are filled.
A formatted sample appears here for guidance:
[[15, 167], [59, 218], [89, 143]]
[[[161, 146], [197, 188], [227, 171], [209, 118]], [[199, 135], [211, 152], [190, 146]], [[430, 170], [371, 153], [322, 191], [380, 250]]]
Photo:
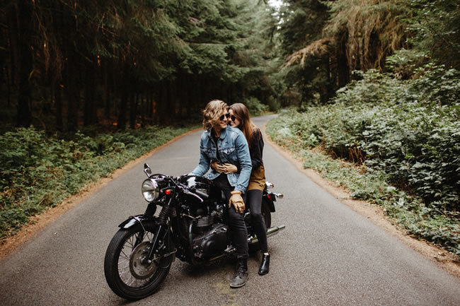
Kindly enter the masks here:
[[[460, 254], [460, 73], [430, 63], [413, 73], [408, 81], [357, 73], [362, 79], [338, 90], [333, 104], [289, 110], [268, 133], [413, 235]], [[311, 148], [354, 165], [340, 172], [340, 159]]]

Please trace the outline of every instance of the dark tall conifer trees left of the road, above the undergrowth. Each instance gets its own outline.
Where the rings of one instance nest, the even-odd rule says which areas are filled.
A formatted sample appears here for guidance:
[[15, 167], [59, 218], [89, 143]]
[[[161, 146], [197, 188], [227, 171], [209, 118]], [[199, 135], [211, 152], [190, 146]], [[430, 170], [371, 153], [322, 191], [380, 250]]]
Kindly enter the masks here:
[[188, 119], [211, 98], [269, 101], [272, 12], [258, 1], [8, 1], [2, 119], [133, 129]]

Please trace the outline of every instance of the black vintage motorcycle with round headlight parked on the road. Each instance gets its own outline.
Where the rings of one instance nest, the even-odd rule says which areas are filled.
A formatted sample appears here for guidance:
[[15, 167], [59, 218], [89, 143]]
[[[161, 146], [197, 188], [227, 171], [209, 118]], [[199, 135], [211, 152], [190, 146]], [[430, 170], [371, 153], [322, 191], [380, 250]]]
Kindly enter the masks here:
[[[144, 172], [148, 177], [142, 182], [142, 195], [149, 203], [146, 211], [122, 222], [105, 252], [108, 286], [127, 300], [139, 300], [159, 290], [176, 257], [199, 265], [236, 252], [226, 217], [227, 201], [212, 181], [194, 175], [151, 174], [147, 164]], [[271, 227], [275, 201], [283, 197], [268, 192], [272, 187], [272, 183], [265, 183], [262, 201], [268, 237], [285, 228]], [[258, 240], [248, 210], [244, 219], [253, 249]]]

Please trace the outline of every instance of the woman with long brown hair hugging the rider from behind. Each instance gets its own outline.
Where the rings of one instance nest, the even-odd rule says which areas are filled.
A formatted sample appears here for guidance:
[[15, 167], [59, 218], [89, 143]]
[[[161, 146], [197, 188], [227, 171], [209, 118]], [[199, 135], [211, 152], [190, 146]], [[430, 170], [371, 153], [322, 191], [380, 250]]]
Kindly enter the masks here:
[[[255, 235], [259, 240], [262, 262], [260, 263], [259, 274], [265, 275], [270, 267], [270, 254], [268, 253], [267, 228], [262, 216], [262, 194], [265, 187], [265, 168], [263, 166], [263, 138], [260, 129], [253, 124], [249, 117], [248, 108], [242, 103], [235, 103], [230, 106], [229, 124], [233, 128], [241, 129], [249, 145], [251, 164], [253, 166], [246, 191], [246, 206], [251, 211]], [[234, 168], [231, 165], [212, 164], [218, 172], [231, 172]]]

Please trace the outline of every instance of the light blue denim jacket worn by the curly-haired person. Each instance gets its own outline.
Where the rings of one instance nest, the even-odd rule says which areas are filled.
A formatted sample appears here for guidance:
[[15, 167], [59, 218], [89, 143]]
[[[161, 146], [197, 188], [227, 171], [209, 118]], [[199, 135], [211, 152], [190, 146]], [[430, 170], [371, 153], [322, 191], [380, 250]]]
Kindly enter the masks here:
[[[227, 179], [234, 190], [245, 192], [251, 176], [251, 156], [249, 155], [248, 141], [243, 132], [238, 128], [227, 126], [221, 131], [217, 139], [219, 157], [222, 163], [231, 163], [238, 167], [238, 172], [229, 173]], [[192, 171], [192, 175], [203, 176], [214, 180], [220, 173], [214, 169], [209, 170], [211, 163], [217, 160], [216, 144], [212, 140], [211, 130], [201, 134], [200, 141], [200, 163]], [[209, 172], [208, 172], [209, 170]]]

